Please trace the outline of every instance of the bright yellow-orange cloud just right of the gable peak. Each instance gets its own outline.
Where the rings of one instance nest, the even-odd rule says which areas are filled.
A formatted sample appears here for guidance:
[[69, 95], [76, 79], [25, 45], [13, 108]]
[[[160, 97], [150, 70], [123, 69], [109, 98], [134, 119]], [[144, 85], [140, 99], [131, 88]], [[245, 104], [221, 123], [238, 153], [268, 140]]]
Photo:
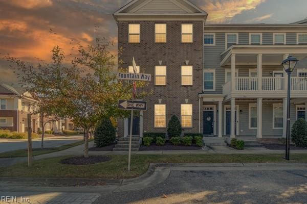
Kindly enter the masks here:
[[266, 0], [209, 0], [202, 7], [209, 13], [208, 22], [222, 23], [244, 11], [253, 10]]

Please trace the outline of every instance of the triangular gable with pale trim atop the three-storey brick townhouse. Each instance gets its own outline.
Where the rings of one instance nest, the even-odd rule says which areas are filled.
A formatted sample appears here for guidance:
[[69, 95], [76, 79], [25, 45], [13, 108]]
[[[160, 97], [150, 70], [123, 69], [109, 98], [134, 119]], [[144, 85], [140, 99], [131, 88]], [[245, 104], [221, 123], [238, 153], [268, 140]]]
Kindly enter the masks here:
[[133, 0], [117, 10], [114, 14], [118, 16], [202, 16], [207, 13], [195, 6], [188, 0]]

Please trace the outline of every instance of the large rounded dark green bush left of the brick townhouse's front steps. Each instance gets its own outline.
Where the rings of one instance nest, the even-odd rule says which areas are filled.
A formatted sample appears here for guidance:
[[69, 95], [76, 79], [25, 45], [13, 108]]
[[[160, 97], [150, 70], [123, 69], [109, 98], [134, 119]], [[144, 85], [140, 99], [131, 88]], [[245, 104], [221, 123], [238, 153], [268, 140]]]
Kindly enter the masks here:
[[94, 143], [96, 147], [112, 144], [116, 139], [116, 129], [109, 118], [102, 119], [94, 131]]

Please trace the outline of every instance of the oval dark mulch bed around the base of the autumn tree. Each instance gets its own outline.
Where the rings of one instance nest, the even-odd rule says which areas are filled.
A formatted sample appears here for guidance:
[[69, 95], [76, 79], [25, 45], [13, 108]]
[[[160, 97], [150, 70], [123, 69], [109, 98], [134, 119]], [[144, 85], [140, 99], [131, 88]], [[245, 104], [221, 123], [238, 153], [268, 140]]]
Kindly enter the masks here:
[[110, 157], [106, 156], [90, 156], [88, 158], [84, 157], [71, 157], [63, 159], [60, 162], [62, 164], [71, 164], [71, 165], [87, 165], [87, 164], [97, 164], [101, 162], [107, 162], [111, 160]]

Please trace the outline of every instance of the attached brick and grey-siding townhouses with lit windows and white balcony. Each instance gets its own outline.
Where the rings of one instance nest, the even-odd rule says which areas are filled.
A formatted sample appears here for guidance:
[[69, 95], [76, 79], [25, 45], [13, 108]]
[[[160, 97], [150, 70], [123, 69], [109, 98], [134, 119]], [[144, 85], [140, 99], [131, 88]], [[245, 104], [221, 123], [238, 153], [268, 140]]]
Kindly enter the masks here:
[[[114, 13], [123, 68], [150, 73], [147, 111], [133, 134], [166, 132], [177, 115], [184, 132], [257, 138], [286, 135], [287, 77], [282, 60], [299, 59], [291, 78], [291, 125], [307, 109], [307, 20], [292, 24], [207, 24], [187, 0], [134, 0]], [[119, 119], [127, 136], [129, 119]]]

